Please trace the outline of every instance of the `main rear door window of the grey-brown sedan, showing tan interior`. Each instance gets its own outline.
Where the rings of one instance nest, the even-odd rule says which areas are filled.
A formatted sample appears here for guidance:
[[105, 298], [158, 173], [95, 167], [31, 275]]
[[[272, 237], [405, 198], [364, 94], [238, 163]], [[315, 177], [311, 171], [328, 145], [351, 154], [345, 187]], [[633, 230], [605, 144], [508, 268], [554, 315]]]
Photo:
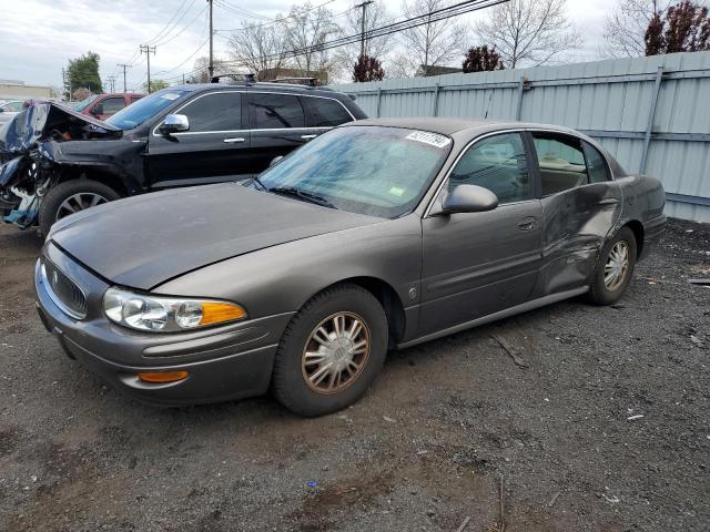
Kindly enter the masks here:
[[589, 183], [585, 154], [579, 139], [532, 133], [532, 142], [540, 167], [542, 196]]

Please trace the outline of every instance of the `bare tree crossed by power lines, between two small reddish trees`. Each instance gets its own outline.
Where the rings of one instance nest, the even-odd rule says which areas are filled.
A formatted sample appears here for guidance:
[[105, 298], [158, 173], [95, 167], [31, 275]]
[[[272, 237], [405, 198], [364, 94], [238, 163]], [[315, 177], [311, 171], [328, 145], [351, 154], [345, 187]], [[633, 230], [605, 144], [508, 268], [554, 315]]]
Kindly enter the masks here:
[[[448, 0], [405, 0], [402, 12], [409, 19], [430, 13], [450, 3]], [[404, 30], [399, 34], [404, 50], [395, 58], [394, 68], [389, 69], [393, 73], [416, 71], [420, 66], [422, 74], [428, 75], [433, 66], [446, 64], [465, 51], [464, 42], [468, 40], [469, 33], [467, 25], [455, 23], [452, 19], [430, 19], [432, 17], [428, 17], [426, 24]]]

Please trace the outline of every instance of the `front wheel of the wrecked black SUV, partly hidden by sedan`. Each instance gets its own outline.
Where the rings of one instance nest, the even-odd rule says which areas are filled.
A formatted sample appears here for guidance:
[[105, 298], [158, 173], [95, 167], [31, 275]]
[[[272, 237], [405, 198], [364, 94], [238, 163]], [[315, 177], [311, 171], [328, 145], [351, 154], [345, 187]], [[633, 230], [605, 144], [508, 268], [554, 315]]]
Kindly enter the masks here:
[[[73, 196], [79, 196], [78, 201], [71, 201]], [[92, 180], [71, 180], [54, 186], [47, 193], [47, 196], [44, 196], [40, 205], [40, 233], [47, 236], [54, 222], [71, 214], [63, 207], [64, 202], [70, 201], [70, 205], [74, 207], [75, 212], [79, 212], [92, 206], [92, 200], [95, 197], [101, 198], [100, 202], [97, 203], [101, 204], [113, 202], [121, 196], [110, 186]], [[78, 203], [79, 201], [81, 205]], [[79, 208], [80, 206], [82, 208]]]

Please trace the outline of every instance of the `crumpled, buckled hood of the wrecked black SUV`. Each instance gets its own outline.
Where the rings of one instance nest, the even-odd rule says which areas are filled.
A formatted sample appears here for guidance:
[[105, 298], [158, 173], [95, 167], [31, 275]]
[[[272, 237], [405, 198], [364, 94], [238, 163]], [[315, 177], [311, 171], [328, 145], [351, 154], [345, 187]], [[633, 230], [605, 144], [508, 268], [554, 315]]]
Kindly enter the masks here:
[[36, 103], [0, 129], [0, 152], [21, 154], [33, 150], [52, 132], [79, 130], [83, 136], [120, 136], [121, 130], [57, 103]]

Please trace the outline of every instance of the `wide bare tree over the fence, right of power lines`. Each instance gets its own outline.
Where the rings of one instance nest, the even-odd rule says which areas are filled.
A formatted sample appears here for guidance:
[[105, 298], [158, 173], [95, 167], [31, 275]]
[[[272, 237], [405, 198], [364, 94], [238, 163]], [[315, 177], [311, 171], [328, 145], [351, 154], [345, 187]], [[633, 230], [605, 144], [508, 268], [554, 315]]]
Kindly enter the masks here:
[[476, 32], [496, 48], [506, 68], [537, 66], [582, 43], [565, 7], [566, 0], [510, 0], [493, 8]]

